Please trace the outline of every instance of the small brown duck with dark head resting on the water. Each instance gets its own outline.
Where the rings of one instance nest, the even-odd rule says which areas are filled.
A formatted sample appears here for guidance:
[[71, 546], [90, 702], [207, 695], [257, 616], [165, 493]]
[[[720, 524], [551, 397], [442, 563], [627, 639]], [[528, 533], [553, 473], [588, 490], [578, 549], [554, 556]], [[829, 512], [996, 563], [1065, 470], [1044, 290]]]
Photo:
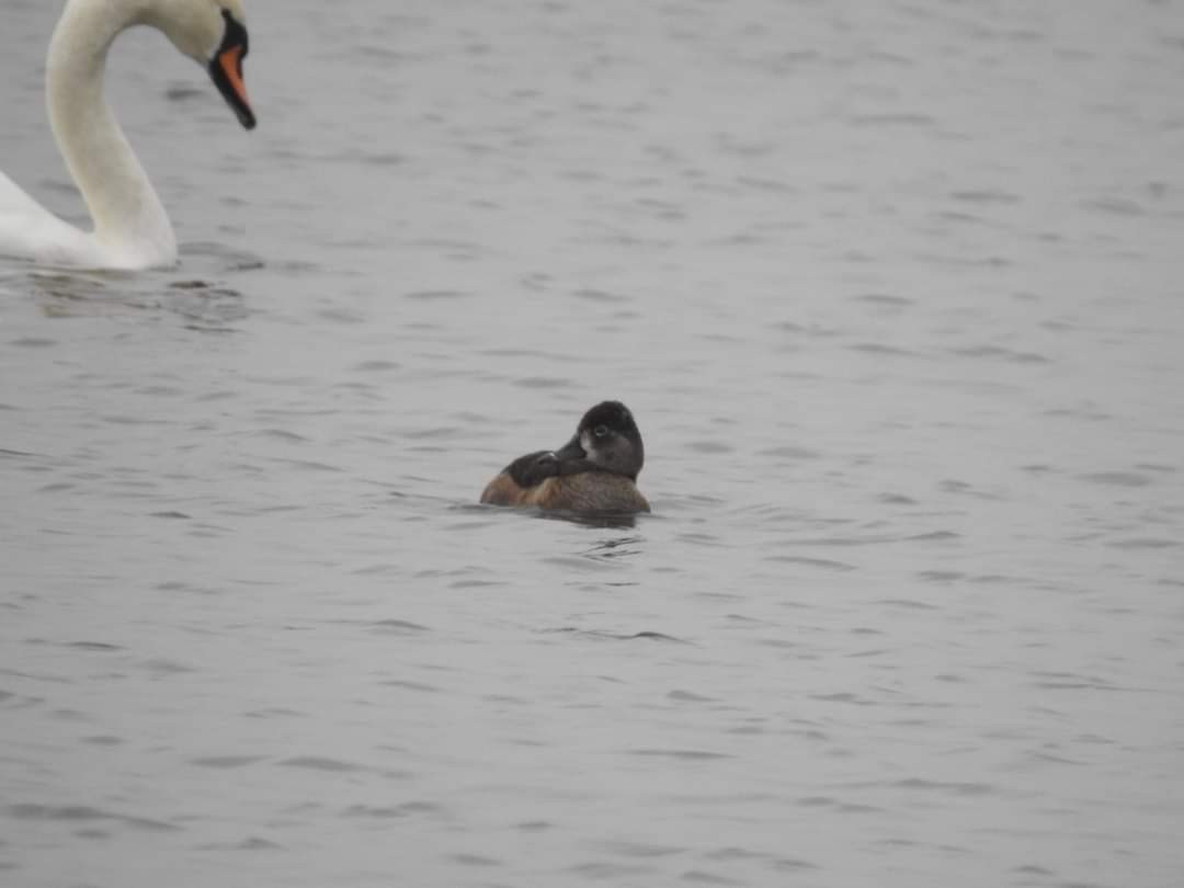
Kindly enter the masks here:
[[645, 445], [620, 401], [601, 401], [559, 450], [520, 456], [485, 485], [481, 502], [548, 511], [636, 514], [650, 504], [637, 489]]

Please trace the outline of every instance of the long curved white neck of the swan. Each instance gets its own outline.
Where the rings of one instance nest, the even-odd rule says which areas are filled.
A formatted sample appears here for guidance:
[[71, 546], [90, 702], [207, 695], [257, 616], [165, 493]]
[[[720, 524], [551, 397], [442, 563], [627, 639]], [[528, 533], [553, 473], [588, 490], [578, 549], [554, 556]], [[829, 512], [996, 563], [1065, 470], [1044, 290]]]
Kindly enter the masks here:
[[50, 40], [50, 126], [95, 220], [95, 238], [137, 264], [176, 259], [176, 238], [103, 96], [107, 53], [140, 24], [137, 0], [70, 0]]

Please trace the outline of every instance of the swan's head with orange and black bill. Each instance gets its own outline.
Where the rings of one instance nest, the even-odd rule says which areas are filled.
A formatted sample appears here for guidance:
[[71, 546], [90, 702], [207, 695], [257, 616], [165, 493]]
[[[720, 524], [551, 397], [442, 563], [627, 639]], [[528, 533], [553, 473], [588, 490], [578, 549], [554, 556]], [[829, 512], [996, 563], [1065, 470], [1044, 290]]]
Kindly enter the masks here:
[[210, 72], [239, 123], [255, 129], [255, 111], [243, 82], [247, 40], [240, 0], [152, 0], [148, 19], [180, 52]]

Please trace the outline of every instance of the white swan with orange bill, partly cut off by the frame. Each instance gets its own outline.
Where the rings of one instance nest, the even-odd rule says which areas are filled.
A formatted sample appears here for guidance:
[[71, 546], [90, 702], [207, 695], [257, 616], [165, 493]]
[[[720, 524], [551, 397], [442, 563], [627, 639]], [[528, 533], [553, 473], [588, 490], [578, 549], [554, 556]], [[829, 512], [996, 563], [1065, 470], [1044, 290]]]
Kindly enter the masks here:
[[50, 40], [45, 90], [53, 136], [95, 231], [57, 218], [0, 173], [0, 256], [92, 269], [175, 264], [168, 214], [103, 97], [107, 53], [134, 25], [163, 31], [210, 71], [239, 122], [251, 129], [244, 21], [239, 0], [69, 0]]

